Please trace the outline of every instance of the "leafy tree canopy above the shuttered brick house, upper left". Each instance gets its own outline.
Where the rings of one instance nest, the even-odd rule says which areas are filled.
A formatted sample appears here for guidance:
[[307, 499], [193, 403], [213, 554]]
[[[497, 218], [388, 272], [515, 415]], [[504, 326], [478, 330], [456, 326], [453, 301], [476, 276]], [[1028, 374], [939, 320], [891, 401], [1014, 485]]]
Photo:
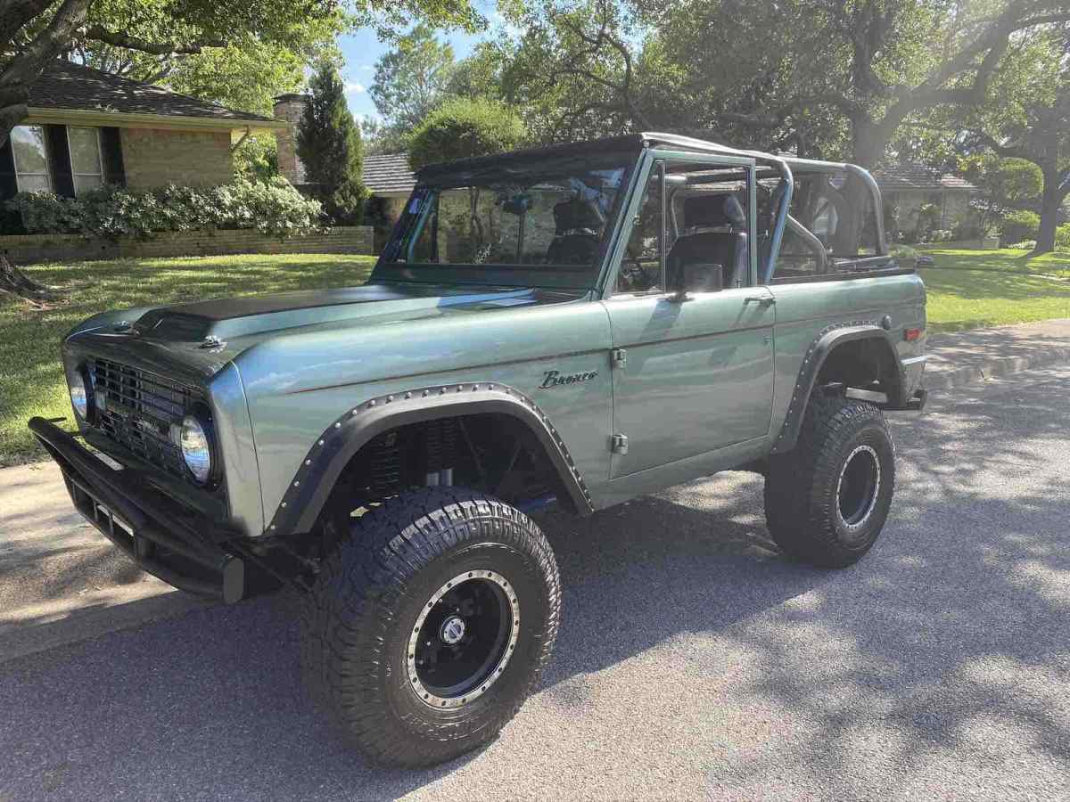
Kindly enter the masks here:
[[[0, 0], [0, 142], [26, 117], [30, 88], [45, 65], [60, 56], [173, 71], [185, 57], [236, 48], [247, 70], [260, 71], [254, 77], [271, 74], [285, 83], [296, 75], [285, 51], [306, 53], [322, 43], [324, 30], [370, 25], [389, 35], [413, 18], [470, 30], [482, 22], [468, 0]], [[258, 58], [258, 48], [268, 58]], [[214, 78], [218, 88], [219, 76], [234, 67], [215, 56], [188, 64], [189, 86], [212, 94]], [[179, 86], [182, 80], [175, 76]], [[250, 91], [236, 103], [262, 108], [263, 96]]]

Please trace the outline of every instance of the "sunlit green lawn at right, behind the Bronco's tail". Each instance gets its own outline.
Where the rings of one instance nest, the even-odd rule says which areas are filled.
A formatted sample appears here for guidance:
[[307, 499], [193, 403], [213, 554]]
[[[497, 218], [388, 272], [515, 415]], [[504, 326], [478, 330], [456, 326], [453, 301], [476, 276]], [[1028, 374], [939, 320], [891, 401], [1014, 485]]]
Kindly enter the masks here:
[[1024, 250], [960, 250], [933, 246], [922, 268], [930, 330], [1070, 318], [1070, 253], [1026, 259]]

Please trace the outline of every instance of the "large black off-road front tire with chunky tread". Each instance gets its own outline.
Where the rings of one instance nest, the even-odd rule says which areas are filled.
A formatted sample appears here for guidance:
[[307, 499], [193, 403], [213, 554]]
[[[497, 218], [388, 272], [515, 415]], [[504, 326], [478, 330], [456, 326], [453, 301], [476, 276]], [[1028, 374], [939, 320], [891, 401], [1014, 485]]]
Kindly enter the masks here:
[[[483, 695], [439, 710], [410, 682], [410, 637], [438, 588], [478, 571], [511, 584], [517, 639]], [[513, 719], [550, 659], [560, 611], [553, 552], [526, 515], [482, 493], [414, 491], [354, 518], [323, 559], [303, 610], [305, 682], [369, 758], [432, 766], [482, 746]]]

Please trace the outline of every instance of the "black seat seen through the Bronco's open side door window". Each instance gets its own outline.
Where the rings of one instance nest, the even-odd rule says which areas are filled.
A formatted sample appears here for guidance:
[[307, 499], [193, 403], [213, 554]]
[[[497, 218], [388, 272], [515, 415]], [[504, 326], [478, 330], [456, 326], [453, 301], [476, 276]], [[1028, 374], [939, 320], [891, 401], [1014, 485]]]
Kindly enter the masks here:
[[677, 237], [669, 250], [668, 289], [683, 289], [686, 267], [693, 264], [719, 264], [722, 287], [744, 287], [750, 268], [750, 252], [747, 214], [739, 199], [734, 195], [687, 198], [684, 222], [692, 233]]

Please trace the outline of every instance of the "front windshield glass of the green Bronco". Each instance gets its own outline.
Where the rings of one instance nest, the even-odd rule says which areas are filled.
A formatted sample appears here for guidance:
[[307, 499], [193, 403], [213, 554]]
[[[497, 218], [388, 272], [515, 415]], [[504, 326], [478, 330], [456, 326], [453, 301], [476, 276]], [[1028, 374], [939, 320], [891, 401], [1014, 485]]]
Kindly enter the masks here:
[[594, 274], [633, 158], [549, 160], [488, 170], [461, 186], [422, 186], [382, 263]]

